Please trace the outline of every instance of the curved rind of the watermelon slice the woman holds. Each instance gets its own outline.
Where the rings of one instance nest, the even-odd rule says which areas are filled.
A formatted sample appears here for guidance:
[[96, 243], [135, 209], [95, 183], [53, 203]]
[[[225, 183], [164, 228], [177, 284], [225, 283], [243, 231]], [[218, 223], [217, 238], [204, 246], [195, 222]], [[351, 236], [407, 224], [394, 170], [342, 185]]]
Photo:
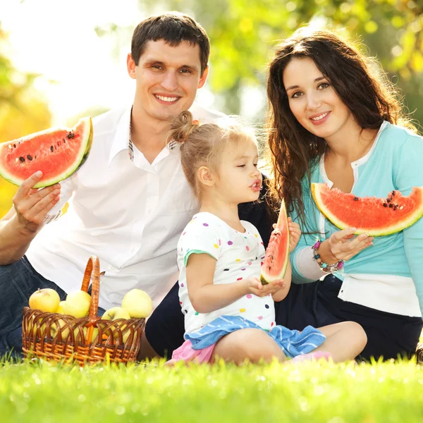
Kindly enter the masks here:
[[[337, 226], [340, 229], [346, 229], [350, 227], [355, 227], [356, 231], [354, 232], [355, 235], [360, 235], [361, 233], [366, 233], [369, 236], [384, 236], [384, 235], [391, 235], [392, 233], [397, 233], [399, 231], [403, 231], [403, 229], [412, 226], [416, 221], [418, 221], [423, 216], [423, 187], [413, 187], [410, 196], [419, 197], [420, 201], [417, 203], [417, 206], [413, 210], [411, 214], [409, 214], [406, 218], [398, 219], [395, 224], [391, 225], [384, 225], [384, 221], [380, 219], [380, 225], [377, 228], [365, 228], [360, 225], [360, 216], [357, 216], [357, 224], [352, 225], [345, 223], [340, 216], [335, 216], [333, 212], [329, 209], [327, 204], [325, 204], [324, 200], [322, 199], [321, 195], [324, 191], [330, 190], [326, 183], [312, 183], [312, 196], [317, 208], [323, 214], [326, 219], [331, 221], [333, 225]], [[343, 196], [350, 197], [352, 194], [344, 193], [340, 190], [336, 190], [337, 195], [337, 202], [342, 204]], [[407, 197], [404, 197], [407, 198]], [[358, 197], [359, 201], [365, 202], [366, 200], [371, 200], [374, 202], [374, 197]], [[379, 199], [380, 202], [383, 202], [384, 199]], [[369, 213], [372, 213], [372, 205], [369, 205]], [[350, 209], [346, 209], [345, 213], [350, 213]]]

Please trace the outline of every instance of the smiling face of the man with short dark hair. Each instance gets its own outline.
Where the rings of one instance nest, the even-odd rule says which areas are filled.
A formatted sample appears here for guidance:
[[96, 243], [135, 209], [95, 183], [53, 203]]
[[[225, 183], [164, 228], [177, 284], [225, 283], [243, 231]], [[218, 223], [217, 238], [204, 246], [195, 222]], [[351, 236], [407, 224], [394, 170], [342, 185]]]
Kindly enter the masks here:
[[194, 102], [206, 82], [201, 74], [200, 47], [181, 42], [171, 47], [164, 40], [148, 41], [137, 65], [128, 55], [128, 73], [137, 82], [135, 102], [159, 121], [170, 121]]

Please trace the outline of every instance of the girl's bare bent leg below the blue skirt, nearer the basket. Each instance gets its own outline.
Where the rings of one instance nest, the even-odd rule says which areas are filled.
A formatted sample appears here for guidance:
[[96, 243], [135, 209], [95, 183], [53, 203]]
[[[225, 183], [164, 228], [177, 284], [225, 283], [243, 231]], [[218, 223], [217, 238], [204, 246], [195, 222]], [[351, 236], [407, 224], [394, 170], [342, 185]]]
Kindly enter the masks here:
[[245, 360], [257, 363], [271, 362], [276, 358], [283, 362], [286, 355], [279, 345], [261, 329], [240, 329], [219, 339], [214, 347], [213, 361], [223, 358], [226, 362], [243, 364]]

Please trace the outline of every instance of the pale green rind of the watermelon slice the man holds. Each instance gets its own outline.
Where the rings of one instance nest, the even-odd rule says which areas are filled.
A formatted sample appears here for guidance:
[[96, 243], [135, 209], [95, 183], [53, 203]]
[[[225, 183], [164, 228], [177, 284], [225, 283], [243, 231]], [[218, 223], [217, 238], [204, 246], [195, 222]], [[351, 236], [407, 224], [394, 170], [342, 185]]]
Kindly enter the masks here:
[[[80, 132], [80, 128], [82, 128], [81, 132]], [[40, 131], [39, 133], [27, 135], [25, 137], [20, 138], [19, 140], [14, 140], [12, 142], [28, 142], [28, 143], [30, 143], [30, 140], [33, 136], [43, 135], [43, 134], [48, 134], [48, 133], [54, 133], [55, 130], [63, 130], [63, 129], [70, 130], [70, 128], [49, 128], [47, 130]], [[78, 171], [80, 169], [80, 167], [82, 166], [82, 164], [84, 164], [85, 161], [87, 160], [88, 154], [90, 154], [90, 149], [91, 149], [91, 146], [92, 146], [92, 137], [93, 137], [92, 119], [90, 117], [81, 118], [78, 121], [78, 123], [71, 130], [73, 130], [75, 133], [80, 133], [80, 135], [81, 135], [81, 142], [80, 142], [80, 147], [79, 147], [79, 151], [78, 151], [78, 156], [73, 161], [73, 163], [70, 164], [70, 166], [68, 166], [68, 168], [66, 168], [65, 172], [56, 175], [54, 178], [49, 178], [49, 179], [43, 178], [42, 180], [39, 181], [39, 183], [34, 185], [33, 188], [44, 188], [44, 187], [54, 185], [56, 183], [61, 182], [61, 180], [68, 178], [69, 176], [73, 175], [73, 173]], [[0, 144], [0, 153], [1, 153], [2, 149], [7, 148], [8, 144], [10, 144], [10, 143], [11, 142], [1, 143]], [[37, 170], [39, 170], [39, 169], [35, 169], [35, 171], [37, 171]], [[34, 171], [34, 173], [35, 173], [35, 171]], [[8, 171], [8, 168], [6, 168], [5, 166], [2, 166], [1, 161], [0, 161], [0, 176], [2, 176], [4, 179], [8, 180], [10, 183], [13, 183], [13, 185], [19, 186], [24, 182], [24, 180], [22, 178], [16, 178], [15, 175], [12, 175], [11, 172]]]

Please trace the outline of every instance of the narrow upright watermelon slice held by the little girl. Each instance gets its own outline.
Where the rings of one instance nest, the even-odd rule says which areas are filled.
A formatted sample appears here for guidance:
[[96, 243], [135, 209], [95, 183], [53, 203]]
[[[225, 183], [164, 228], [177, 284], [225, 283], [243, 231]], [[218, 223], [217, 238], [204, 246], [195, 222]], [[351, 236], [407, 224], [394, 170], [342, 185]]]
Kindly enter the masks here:
[[289, 228], [285, 201], [282, 200], [278, 223], [270, 235], [269, 245], [266, 248], [262, 263], [260, 281], [263, 285], [278, 281], [285, 276], [289, 260]]

